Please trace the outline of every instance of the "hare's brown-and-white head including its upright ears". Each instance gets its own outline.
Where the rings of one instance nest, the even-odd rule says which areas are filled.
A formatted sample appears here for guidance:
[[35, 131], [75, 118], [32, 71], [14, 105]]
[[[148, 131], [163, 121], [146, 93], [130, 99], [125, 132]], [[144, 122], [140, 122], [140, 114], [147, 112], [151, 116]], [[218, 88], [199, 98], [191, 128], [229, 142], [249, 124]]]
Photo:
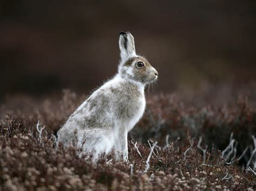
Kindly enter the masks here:
[[135, 52], [134, 38], [130, 32], [120, 32], [121, 61], [118, 72], [122, 77], [148, 84], [157, 80], [158, 72], [144, 57]]

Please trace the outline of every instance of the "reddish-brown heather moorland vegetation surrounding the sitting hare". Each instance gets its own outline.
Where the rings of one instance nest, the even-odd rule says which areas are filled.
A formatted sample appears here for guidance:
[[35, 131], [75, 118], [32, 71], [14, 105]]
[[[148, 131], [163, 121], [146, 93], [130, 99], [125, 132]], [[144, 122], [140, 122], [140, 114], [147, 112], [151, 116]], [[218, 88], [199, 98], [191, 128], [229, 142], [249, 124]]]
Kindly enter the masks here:
[[[109, 155], [95, 165], [78, 158], [77, 148], [56, 150], [52, 136], [84, 98], [65, 90], [62, 98], [5, 99], [0, 107], [0, 190], [256, 189], [256, 175], [246, 166], [256, 136], [251, 104], [255, 100], [240, 96], [228, 106], [191, 108], [175, 95], [151, 96], [142, 121], [129, 134], [130, 163], [111, 160]], [[41, 138], [38, 121], [39, 127], [45, 125]], [[232, 132], [234, 144], [228, 156], [221, 151], [230, 144]], [[156, 141], [152, 152], [150, 145]], [[255, 170], [255, 154], [251, 161], [248, 166]]]

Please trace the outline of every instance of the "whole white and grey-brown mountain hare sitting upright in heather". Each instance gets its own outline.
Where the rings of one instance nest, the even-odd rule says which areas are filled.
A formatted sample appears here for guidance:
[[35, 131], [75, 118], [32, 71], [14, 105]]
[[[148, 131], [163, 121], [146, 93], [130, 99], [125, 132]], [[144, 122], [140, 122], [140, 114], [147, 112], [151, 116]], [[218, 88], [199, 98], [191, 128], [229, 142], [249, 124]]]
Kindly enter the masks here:
[[135, 52], [130, 32], [120, 32], [121, 60], [118, 73], [97, 89], [69, 117], [58, 131], [58, 144], [73, 145], [92, 160], [115, 151], [117, 160], [128, 160], [127, 133], [143, 116], [144, 87], [157, 80], [158, 73]]

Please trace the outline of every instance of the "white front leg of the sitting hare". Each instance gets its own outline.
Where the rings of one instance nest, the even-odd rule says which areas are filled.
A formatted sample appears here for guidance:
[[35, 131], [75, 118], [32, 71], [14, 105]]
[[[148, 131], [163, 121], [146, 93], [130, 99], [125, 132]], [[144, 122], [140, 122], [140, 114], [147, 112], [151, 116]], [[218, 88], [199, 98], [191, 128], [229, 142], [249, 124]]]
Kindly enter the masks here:
[[127, 142], [128, 131], [122, 129], [119, 131], [115, 149], [117, 151], [116, 159], [119, 160], [119, 154], [123, 155], [123, 161], [128, 161], [128, 142]]

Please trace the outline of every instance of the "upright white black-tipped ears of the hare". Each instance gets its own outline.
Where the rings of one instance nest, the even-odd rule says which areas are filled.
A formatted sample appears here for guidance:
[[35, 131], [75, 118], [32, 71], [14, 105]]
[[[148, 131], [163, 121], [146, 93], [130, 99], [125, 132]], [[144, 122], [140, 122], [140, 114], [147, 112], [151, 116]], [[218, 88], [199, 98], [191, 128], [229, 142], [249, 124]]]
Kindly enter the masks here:
[[130, 32], [120, 32], [119, 48], [122, 60], [127, 60], [132, 56], [136, 56], [134, 38]]

